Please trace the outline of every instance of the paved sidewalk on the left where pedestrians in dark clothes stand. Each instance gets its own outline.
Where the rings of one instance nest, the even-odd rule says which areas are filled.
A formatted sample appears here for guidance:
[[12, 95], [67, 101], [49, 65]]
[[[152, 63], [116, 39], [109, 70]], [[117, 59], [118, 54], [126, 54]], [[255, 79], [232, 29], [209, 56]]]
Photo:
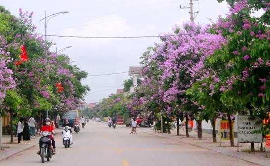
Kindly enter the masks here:
[[[57, 128], [55, 129], [55, 132], [59, 133], [62, 132], [62, 130]], [[57, 135], [61, 136], [61, 134]], [[23, 152], [27, 149], [30, 149], [35, 145], [39, 144], [39, 138], [40, 135], [37, 134], [37, 136], [31, 137], [30, 144], [24, 144], [23, 140], [21, 141], [21, 143], [23, 144], [18, 144], [18, 137], [13, 136], [14, 143], [10, 143], [10, 135], [2, 135], [2, 146], [4, 150], [0, 150], [0, 162], [1, 160], [7, 160], [8, 158], [15, 156], [16, 154]], [[39, 149], [37, 149], [37, 152], [38, 151]]]

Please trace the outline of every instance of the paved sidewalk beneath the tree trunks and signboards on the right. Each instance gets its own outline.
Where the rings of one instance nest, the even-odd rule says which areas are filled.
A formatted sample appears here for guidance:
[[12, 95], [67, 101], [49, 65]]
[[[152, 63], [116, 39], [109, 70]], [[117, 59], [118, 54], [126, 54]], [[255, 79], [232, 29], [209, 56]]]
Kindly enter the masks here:
[[[189, 138], [186, 137], [186, 131], [180, 131], [180, 136], [176, 135], [176, 129], [171, 131], [171, 134], [168, 133], [154, 133], [153, 130], [144, 130], [147, 134], [152, 134], [155, 136], [176, 140], [182, 143], [190, 144], [197, 147], [206, 148], [217, 153], [223, 153], [234, 158], [242, 159], [251, 163], [255, 163], [261, 166], [270, 166], [270, 158], [266, 158], [266, 155], [270, 155], [270, 149], [266, 149], [266, 152], [247, 152], [250, 149], [250, 143], [239, 143], [239, 151], [237, 152], [237, 138], [234, 138], [234, 147], [231, 147], [230, 141], [222, 141], [221, 146], [219, 143], [219, 135], [217, 134], [217, 142], [213, 143], [212, 134], [202, 133], [202, 140], [197, 138], [197, 132], [189, 132]], [[261, 144], [255, 143], [255, 151], [259, 150]], [[265, 142], [263, 143], [265, 147]], [[244, 152], [242, 152], [244, 151]]]

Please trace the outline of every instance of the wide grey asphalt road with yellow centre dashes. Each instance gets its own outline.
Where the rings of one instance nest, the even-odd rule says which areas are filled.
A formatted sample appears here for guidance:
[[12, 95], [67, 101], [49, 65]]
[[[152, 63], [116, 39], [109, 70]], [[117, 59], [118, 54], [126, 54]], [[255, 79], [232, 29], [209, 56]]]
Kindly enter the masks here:
[[89, 122], [74, 133], [74, 144], [65, 149], [61, 133], [56, 134], [56, 155], [41, 163], [34, 146], [0, 166], [256, 166], [230, 156], [170, 139], [143, 133], [150, 128], [109, 128], [103, 122]]

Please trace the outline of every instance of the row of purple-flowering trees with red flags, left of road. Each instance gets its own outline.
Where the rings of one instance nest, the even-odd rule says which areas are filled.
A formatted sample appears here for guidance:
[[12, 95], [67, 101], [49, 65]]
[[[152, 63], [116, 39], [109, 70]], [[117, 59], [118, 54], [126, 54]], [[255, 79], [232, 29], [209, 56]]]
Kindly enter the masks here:
[[35, 33], [32, 15], [20, 9], [17, 18], [0, 6], [0, 116], [11, 119], [77, 109], [90, 90], [81, 83], [88, 73], [50, 51], [52, 42]]

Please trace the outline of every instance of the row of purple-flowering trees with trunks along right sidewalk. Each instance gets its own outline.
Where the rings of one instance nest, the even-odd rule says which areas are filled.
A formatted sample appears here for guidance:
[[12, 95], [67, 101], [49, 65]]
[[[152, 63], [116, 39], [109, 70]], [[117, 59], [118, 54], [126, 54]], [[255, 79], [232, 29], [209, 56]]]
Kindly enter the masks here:
[[[270, 2], [227, 2], [231, 7], [226, 18], [219, 17], [211, 25], [185, 22], [174, 26], [172, 33], [159, 34], [161, 42], [149, 47], [141, 57], [144, 80], [128, 100], [131, 114], [150, 113], [163, 116], [168, 122], [171, 117], [185, 118], [186, 127], [189, 120], [196, 120], [199, 139], [201, 122], [210, 120], [213, 142], [216, 142], [216, 118], [229, 120], [231, 133], [236, 113], [267, 118]], [[258, 10], [263, 12], [262, 16], [251, 16]], [[113, 103], [119, 100], [110, 98]], [[269, 126], [262, 125], [258, 132], [269, 134]], [[232, 134], [231, 146], [234, 146]], [[251, 148], [254, 151], [254, 143]]]

